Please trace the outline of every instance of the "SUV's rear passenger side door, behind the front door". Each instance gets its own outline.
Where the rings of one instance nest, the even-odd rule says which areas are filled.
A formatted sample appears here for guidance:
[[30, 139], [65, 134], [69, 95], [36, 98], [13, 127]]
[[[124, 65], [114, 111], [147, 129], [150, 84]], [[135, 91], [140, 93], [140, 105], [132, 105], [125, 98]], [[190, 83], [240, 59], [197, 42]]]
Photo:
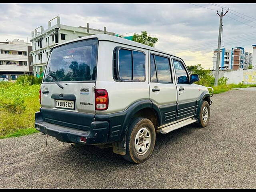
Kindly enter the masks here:
[[158, 106], [162, 116], [161, 125], [176, 120], [177, 88], [174, 84], [171, 58], [166, 54], [149, 52], [150, 99]]

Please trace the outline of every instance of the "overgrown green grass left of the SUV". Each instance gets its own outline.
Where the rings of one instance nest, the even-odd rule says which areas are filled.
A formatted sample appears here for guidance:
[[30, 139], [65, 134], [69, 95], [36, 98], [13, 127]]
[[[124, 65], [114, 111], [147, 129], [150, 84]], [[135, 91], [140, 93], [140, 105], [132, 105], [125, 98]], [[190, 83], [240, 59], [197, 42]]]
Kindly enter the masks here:
[[37, 132], [35, 112], [39, 110], [40, 84], [0, 83], [0, 138]]

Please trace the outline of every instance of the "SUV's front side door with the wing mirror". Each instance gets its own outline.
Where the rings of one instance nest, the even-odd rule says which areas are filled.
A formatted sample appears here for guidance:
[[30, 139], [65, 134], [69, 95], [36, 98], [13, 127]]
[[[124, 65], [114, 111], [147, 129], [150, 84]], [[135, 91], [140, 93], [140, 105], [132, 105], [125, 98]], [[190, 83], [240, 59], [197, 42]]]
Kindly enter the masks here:
[[194, 116], [198, 89], [190, 84], [190, 74], [180, 58], [172, 57], [175, 69], [175, 81], [178, 91], [177, 120]]

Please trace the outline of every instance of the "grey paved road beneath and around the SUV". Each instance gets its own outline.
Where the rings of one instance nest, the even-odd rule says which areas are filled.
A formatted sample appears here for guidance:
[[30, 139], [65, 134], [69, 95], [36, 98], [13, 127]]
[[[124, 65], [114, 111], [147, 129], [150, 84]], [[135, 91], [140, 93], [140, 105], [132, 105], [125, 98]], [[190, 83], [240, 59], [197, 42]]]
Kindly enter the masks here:
[[134, 165], [46, 135], [0, 140], [0, 188], [256, 188], [256, 89], [213, 96], [210, 125], [156, 136]]

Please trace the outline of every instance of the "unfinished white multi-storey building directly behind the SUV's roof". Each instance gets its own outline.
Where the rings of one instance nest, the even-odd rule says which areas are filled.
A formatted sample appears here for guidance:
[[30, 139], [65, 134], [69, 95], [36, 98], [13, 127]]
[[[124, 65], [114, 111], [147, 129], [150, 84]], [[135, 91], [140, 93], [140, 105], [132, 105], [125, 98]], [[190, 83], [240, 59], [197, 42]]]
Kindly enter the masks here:
[[[56, 19], [57, 24], [52, 26], [52, 20]], [[87, 23], [86, 27], [73, 27], [60, 24], [60, 17], [57, 16], [52, 20], [48, 21], [48, 29], [44, 30], [43, 26], [36, 28], [32, 31], [32, 52], [33, 56], [33, 73], [38, 76], [41, 72], [44, 72], [46, 62], [49, 56], [50, 49], [62, 42], [69, 41], [84, 36], [95, 35], [95, 34], [109, 34], [115, 35], [113, 32], [104, 30], [89, 28]], [[40, 32], [37, 30], [40, 28]]]

